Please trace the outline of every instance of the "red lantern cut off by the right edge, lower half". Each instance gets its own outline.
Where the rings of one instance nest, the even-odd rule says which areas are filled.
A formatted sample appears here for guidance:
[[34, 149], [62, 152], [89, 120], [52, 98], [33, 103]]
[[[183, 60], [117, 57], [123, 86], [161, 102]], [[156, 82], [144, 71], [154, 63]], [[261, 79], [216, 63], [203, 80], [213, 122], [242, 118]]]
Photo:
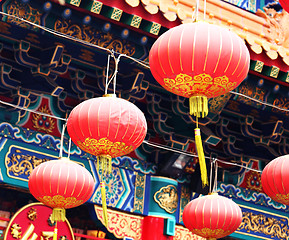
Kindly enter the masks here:
[[261, 183], [274, 201], [289, 205], [289, 155], [275, 158], [264, 168]]

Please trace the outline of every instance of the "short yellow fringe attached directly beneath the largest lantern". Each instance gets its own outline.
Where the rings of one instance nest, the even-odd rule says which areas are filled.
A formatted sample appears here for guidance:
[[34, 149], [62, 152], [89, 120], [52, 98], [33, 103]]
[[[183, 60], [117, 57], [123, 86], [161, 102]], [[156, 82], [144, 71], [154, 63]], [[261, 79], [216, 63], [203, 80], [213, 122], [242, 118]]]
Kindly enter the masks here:
[[208, 98], [206, 96], [190, 97], [190, 115], [206, 117], [209, 113]]

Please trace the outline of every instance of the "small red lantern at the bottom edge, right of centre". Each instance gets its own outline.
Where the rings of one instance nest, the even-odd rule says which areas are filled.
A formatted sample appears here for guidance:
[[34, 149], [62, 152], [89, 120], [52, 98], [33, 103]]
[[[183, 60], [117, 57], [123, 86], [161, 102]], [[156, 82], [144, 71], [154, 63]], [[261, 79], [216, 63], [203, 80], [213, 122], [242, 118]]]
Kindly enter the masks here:
[[211, 193], [187, 204], [183, 212], [183, 222], [192, 233], [201, 237], [222, 238], [239, 227], [242, 211], [231, 199]]

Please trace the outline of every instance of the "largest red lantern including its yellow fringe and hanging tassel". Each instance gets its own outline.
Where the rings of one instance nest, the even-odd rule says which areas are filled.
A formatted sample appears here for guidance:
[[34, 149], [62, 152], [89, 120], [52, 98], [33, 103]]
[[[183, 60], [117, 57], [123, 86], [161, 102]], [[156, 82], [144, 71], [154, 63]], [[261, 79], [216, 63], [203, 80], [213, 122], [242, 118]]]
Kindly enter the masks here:
[[[235, 89], [247, 76], [250, 56], [232, 31], [206, 22], [186, 23], [161, 35], [150, 50], [150, 69], [168, 91], [190, 99], [190, 114], [205, 117], [207, 98]], [[200, 129], [195, 129], [203, 185], [208, 184]]]

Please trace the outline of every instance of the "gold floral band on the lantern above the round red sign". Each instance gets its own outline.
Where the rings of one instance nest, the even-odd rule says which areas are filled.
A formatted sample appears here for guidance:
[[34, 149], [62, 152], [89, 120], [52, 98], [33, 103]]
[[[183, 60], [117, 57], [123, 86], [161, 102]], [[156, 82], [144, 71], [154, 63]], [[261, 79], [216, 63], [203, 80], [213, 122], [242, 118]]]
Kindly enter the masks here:
[[83, 203], [83, 200], [77, 200], [75, 197], [66, 198], [61, 195], [38, 197], [37, 200], [52, 208], [72, 208]]

